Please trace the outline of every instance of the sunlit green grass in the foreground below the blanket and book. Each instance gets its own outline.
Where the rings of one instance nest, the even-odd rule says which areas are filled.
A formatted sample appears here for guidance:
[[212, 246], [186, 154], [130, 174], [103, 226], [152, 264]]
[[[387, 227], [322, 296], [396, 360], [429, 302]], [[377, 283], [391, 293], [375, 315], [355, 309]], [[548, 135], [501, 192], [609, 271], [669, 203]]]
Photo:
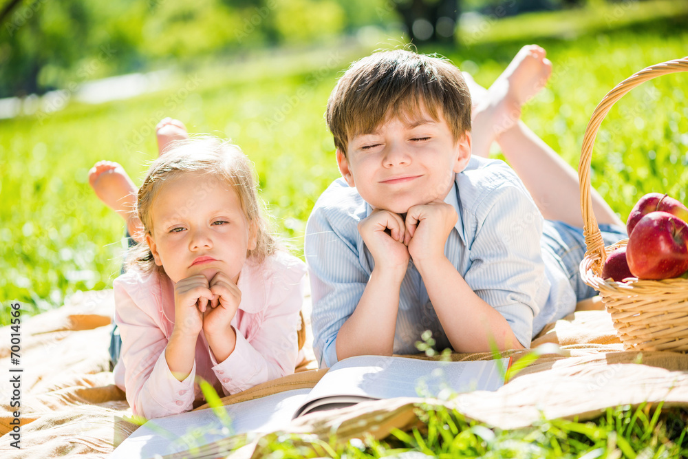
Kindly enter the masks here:
[[[442, 405], [419, 404], [420, 427], [394, 429], [383, 440], [363, 434], [346, 442], [276, 432], [260, 438], [253, 457], [291, 458], [519, 458], [674, 459], [688, 457], [688, 412], [641, 404], [605, 410], [587, 421], [541, 420], [532, 427], [502, 430], [467, 420]], [[223, 442], [226, 454], [245, 445]], [[408, 456], [405, 456], [408, 454]]]

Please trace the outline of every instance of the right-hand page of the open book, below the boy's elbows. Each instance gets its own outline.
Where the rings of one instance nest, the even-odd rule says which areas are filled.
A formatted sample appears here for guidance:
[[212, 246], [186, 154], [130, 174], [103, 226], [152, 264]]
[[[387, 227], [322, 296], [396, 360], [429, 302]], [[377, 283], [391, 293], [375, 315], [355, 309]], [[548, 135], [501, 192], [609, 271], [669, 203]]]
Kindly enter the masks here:
[[[508, 358], [502, 359], [504, 370]], [[356, 356], [332, 365], [311, 389], [299, 416], [329, 396], [358, 396], [364, 400], [394, 397], [446, 398], [473, 390], [493, 391], [504, 385], [497, 361], [440, 362], [391, 356]]]

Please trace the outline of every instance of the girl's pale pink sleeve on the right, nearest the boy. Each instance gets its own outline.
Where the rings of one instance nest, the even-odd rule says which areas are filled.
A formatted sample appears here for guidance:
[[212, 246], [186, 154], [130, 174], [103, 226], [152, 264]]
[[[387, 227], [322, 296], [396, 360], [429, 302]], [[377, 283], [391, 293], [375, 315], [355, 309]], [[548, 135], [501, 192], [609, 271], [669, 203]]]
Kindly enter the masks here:
[[221, 363], [210, 352], [213, 372], [226, 395], [294, 372], [306, 279], [303, 261], [293, 261], [275, 270], [268, 279], [268, 296], [259, 328], [248, 339], [235, 329], [235, 349]]

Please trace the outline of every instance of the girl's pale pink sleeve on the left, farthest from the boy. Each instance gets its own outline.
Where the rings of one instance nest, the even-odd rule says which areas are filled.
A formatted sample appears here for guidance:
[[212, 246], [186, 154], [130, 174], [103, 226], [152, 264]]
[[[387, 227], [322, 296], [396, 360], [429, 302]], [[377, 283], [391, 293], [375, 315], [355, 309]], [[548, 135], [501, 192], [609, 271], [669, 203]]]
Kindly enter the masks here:
[[[125, 275], [127, 276], [127, 275]], [[114, 281], [115, 323], [122, 337], [127, 401], [133, 414], [160, 418], [189, 411], [195, 396], [191, 374], [178, 381], [165, 359], [167, 339], [153, 318], [131, 297], [128, 289], [142, 288], [122, 277]]]

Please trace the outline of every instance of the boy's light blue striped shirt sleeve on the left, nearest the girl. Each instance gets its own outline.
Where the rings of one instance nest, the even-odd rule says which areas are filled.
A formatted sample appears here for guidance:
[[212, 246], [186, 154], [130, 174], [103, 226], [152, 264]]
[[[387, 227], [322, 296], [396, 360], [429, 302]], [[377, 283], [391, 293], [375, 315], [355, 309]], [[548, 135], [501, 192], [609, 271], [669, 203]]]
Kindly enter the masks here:
[[349, 234], [358, 234], [356, 223], [351, 215], [328, 213], [316, 204], [306, 225], [304, 253], [313, 301], [313, 350], [320, 367], [337, 362], [337, 334], [356, 309], [370, 278], [361, 264], [356, 238]]

